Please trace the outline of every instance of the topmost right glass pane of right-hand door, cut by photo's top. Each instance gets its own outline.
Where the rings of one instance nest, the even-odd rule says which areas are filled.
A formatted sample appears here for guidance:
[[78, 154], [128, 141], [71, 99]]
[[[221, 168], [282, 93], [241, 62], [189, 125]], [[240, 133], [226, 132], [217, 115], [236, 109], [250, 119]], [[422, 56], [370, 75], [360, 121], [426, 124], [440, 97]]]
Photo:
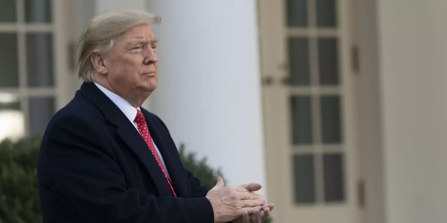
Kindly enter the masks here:
[[316, 0], [318, 27], [337, 26], [336, 0]]

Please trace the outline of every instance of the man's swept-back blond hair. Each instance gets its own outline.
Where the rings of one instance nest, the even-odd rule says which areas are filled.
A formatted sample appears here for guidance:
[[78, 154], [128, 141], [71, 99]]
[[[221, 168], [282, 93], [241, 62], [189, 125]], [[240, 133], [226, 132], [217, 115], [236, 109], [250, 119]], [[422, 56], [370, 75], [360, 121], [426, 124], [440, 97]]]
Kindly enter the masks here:
[[139, 24], [158, 24], [160, 21], [161, 17], [155, 13], [132, 9], [105, 11], [93, 17], [76, 41], [79, 78], [86, 82], [93, 81], [90, 61], [93, 53], [107, 54], [113, 43], [130, 28]]

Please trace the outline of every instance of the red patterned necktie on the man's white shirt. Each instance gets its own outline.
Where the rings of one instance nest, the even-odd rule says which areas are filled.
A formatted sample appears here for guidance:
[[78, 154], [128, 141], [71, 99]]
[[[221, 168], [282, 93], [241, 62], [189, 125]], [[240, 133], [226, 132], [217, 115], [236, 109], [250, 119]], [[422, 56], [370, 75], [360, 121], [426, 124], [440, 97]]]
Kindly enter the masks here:
[[174, 197], [177, 197], [175, 194], [174, 188], [172, 187], [172, 183], [169, 180], [169, 178], [166, 175], [166, 171], [163, 168], [163, 165], [161, 165], [160, 158], [158, 157], [157, 151], [155, 150], [155, 146], [153, 145], [152, 138], [150, 137], [148, 125], [146, 124], [145, 116], [143, 115], [143, 112], [137, 109], [137, 116], [135, 117], [135, 122], [137, 122], [138, 131], [140, 131], [140, 135], [145, 140], [146, 144], [149, 147], [150, 152], [152, 153], [153, 157], [155, 157], [155, 160], [157, 161], [158, 166], [161, 169], [161, 172], [163, 172], [164, 178], [166, 178], [166, 181], [169, 184], [169, 187], [171, 188], [172, 194]]

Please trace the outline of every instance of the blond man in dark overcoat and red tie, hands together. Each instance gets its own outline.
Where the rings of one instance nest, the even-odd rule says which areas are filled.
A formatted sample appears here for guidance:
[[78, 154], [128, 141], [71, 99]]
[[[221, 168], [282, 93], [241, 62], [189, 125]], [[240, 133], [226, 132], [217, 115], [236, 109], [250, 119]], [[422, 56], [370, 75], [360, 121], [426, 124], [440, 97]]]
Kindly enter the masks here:
[[81, 34], [74, 99], [45, 132], [38, 166], [44, 223], [260, 222], [259, 184], [200, 186], [164, 123], [140, 106], [157, 86], [150, 12], [95, 16]]

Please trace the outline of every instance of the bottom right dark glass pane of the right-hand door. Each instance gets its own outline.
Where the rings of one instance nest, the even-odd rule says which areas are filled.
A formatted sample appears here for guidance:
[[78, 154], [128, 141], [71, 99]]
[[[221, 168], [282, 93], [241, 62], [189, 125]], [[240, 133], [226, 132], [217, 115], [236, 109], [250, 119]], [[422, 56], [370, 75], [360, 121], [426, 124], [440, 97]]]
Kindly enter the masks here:
[[345, 200], [343, 157], [341, 154], [323, 155], [324, 200], [340, 202]]

